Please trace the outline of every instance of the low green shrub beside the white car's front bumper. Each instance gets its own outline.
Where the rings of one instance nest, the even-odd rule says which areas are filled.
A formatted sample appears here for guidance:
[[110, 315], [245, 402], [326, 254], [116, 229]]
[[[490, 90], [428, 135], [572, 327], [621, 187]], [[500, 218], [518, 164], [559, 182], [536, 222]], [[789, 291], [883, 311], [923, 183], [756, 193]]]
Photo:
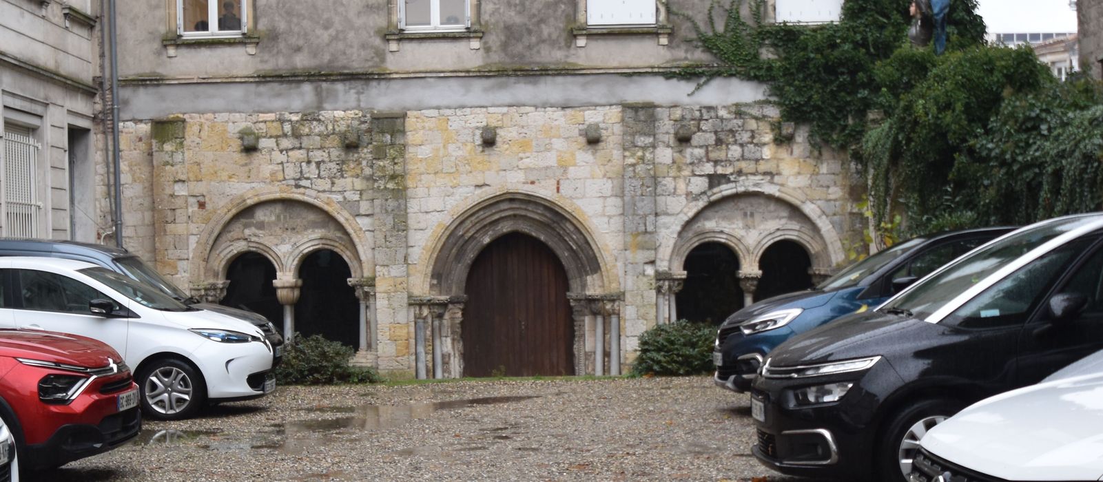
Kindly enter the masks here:
[[302, 336], [283, 346], [283, 361], [276, 367], [276, 379], [285, 385], [323, 385], [334, 383], [381, 382], [374, 368], [352, 366], [353, 350], [322, 335]]

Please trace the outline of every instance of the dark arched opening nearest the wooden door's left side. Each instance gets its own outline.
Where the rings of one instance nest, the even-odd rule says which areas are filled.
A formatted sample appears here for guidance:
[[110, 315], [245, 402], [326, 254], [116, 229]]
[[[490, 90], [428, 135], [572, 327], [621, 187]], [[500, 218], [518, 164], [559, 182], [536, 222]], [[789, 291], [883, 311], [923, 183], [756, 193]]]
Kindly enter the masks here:
[[360, 301], [355, 288], [349, 286], [352, 269], [336, 251], [321, 249], [311, 253], [299, 267], [302, 290], [295, 304], [295, 330], [310, 336], [356, 347], [360, 339]]

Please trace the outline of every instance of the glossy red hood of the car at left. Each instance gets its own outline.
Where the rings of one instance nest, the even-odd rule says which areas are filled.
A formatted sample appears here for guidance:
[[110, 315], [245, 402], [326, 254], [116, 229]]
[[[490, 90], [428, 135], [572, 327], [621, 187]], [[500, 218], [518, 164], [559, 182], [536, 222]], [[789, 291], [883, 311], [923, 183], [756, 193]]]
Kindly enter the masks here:
[[[103, 342], [39, 330], [0, 330], [0, 356], [99, 368], [122, 356]], [[110, 360], [108, 360], [110, 358]]]

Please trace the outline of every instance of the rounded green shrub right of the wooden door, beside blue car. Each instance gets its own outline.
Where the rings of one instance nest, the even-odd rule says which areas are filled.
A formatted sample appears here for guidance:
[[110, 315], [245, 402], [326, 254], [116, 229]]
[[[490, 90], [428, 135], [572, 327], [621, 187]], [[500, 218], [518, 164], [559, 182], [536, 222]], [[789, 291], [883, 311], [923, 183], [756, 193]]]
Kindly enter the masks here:
[[697, 375], [713, 371], [716, 326], [681, 320], [640, 336], [633, 375]]

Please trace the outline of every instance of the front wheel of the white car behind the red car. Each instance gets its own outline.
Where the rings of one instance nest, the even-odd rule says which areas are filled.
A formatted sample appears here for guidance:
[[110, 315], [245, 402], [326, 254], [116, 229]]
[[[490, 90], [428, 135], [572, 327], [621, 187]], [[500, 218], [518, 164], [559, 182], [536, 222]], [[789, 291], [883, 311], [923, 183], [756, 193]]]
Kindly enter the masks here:
[[181, 420], [206, 403], [206, 382], [192, 364], [160, 358], [138, 373], [138, 400], [142, 415], [153, 420]]

